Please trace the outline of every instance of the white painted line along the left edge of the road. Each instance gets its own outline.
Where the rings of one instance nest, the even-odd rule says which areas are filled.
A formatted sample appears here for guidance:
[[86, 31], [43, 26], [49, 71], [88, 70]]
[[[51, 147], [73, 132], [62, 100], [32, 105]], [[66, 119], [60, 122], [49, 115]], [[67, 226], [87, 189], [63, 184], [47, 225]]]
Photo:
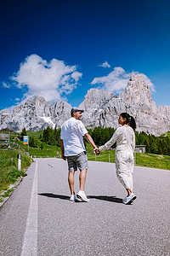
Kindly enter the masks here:
[[26, 232], [20, 256], [37, 256], [37, 162], [26, 220]]

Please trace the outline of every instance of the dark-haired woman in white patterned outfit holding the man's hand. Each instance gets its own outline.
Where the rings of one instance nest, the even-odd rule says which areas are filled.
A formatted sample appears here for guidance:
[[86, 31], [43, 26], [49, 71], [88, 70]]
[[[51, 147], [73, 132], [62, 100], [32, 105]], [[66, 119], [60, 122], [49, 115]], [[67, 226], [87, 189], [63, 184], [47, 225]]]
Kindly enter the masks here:
[[[116, 143], [116, 175], [127, 189], [127, 196], [122, 200], [127, 205], [136, 199], [136, 195], [133, 194], [133, 151], [136, 123], [128, 113], [121, 113], [118, 122], [122, 127], [116, 129], [110, 141], [99, 147], [99, 152], [111, 148]], [[99, 152], [96, 151], [96, 154]]]

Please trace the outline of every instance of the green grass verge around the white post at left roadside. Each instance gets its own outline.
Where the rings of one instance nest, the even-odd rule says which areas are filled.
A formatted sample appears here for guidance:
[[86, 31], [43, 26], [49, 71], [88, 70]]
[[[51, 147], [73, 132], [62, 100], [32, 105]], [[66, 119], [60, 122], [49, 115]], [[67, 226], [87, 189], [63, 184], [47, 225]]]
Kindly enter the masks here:
[[[17, 154], [21, 154], [21, 171], [18, 171]], [[0, 193], [8, 189], [21, 176], [25, 176], [25, 170], [31, 165], [31, 159], [22, 150], [0, 150]]]

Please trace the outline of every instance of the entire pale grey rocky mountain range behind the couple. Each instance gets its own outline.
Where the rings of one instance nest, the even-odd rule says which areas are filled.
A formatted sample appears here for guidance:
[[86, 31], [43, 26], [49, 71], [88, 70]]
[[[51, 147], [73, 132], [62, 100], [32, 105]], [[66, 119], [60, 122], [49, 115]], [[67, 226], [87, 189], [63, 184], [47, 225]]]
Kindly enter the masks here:
[[[127, 88], [117, 97], [105, 90], [90, 89], [80, 107], [85, 110], [82, 121], [88, 128], [95, 126], [118, 127], [118, 116], [122, 112], [133, 115], [137, 131], [161, 135], [170, 131], [170, 106], [159, 106], [151, 98], [150, 88], [139, 74], [133, 75]], [[48, 125], [59, 128], [70, 118], [71, 105], [57, 101], [46, 102], [43, 97], [32, 96], [24, 104], [14, 107], [12, 112], [0, 111], [0, 128], [14, 131], [38, 131]]]

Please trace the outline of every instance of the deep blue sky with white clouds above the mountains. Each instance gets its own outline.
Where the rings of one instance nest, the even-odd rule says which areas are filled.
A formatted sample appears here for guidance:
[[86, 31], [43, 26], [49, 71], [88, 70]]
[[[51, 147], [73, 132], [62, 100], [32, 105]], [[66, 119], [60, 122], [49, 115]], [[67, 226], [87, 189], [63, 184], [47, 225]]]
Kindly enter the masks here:
[[32, 95], [79, 105], [90, 88], [118, 95], [144, 74], [170, 105], [170, 2], [2, 0], [0, 109]]

